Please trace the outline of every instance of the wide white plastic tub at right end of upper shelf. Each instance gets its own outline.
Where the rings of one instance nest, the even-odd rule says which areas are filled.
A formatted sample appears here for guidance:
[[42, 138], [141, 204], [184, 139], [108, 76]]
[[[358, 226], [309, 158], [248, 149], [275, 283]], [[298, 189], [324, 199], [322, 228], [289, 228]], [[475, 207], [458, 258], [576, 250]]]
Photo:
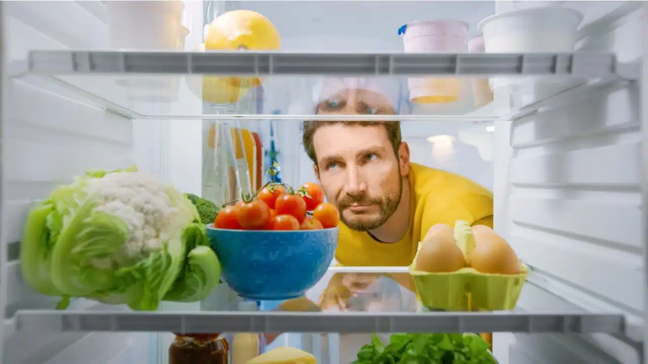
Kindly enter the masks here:
[[[478, 27], [487, 53], [573, 52], [582, 20], [583, 14], [577, 10], [526, 8], [489, 16]], [[496, 89], [536, 81], [539, 82], [536, 78], [497, 78], [491, 79], [491, 85]]]

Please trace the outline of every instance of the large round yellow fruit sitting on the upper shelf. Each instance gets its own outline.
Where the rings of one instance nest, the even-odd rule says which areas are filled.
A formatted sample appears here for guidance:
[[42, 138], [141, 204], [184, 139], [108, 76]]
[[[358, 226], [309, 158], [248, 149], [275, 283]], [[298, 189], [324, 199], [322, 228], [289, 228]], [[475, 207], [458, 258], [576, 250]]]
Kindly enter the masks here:
[[[268, 18], [251, 10], [233, 10], [216, 17], [207, 28], [205, 49], [209, 51], [277, 51], [281, 37]], [[234, 87], [254, 87], [259, 78], [231, 78]]]

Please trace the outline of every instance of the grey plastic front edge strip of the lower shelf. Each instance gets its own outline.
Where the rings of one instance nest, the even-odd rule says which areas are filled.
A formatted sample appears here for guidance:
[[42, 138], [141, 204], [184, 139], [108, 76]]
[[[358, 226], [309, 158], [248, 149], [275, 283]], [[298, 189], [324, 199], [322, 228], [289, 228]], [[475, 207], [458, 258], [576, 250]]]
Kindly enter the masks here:
[[625, 331], [621, 314], [526, 312], [60, 312], [16, 314], [17, 331], [86, 332], [524, 332]]

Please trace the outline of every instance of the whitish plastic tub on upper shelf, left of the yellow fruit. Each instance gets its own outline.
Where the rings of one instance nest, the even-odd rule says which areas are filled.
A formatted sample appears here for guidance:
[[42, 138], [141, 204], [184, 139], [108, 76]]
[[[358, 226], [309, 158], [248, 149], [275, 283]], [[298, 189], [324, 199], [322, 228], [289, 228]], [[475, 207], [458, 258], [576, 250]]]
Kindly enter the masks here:
[[107, 1], [112, 49], [176, 49], [182, 1]]

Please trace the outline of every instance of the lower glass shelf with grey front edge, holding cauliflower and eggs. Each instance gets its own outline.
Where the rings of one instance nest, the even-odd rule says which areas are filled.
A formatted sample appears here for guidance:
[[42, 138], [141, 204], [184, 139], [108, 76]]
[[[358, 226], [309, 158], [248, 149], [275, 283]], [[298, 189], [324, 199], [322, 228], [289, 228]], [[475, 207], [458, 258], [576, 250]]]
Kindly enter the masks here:
[[[118, 310], [23, 310], [14, 317], [18, 332], [525, 332], [619, 334], [620, 312], [428, 312], [410, 290], [406, 267], [331, 267], [305, 297], [279, 302], [272, 312], [124, 312]], [[538, 286], [522, 291], [537, 297]], [[222, 292], [222, 291], [221, 291]], [[526, 293], [525, 293], [526, 292]], [[547, 299], [551, 293], [543, 291]], [[229, 301], [238, 306], [240, 299]], [[564, 305], [563, 305], [564, 306]], [[221, 306], [224, 309], [227, 307]]]

